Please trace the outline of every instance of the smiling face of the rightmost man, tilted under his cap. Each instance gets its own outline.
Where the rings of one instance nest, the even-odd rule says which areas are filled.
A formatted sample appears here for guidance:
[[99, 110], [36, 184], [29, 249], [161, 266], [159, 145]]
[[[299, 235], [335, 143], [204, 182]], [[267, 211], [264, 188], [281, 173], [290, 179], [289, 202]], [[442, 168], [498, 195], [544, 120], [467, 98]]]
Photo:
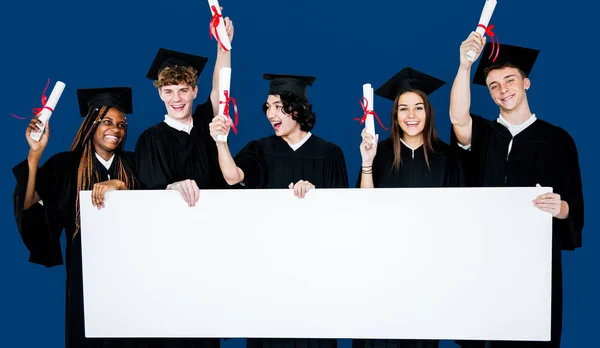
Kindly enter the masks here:
[[525, 91], [531, 85], [529, 79], [514, 67], [491, 70], [485, 81], [490, 96], [501, 111], [512, 111], [521, 106], [526, 99]]

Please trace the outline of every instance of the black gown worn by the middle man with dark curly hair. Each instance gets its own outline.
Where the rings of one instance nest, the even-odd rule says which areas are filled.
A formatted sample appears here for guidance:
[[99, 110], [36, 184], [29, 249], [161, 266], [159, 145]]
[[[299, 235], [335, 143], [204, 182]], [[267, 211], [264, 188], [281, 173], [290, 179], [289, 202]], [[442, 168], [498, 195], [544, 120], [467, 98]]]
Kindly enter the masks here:
[[316, 188], [347, 188], [348, 173], [342, 149], [314, 134], [296, 151], [271, 135], [248, 143], [236, 156], [247, 188], [288, 188], [310, 181]]

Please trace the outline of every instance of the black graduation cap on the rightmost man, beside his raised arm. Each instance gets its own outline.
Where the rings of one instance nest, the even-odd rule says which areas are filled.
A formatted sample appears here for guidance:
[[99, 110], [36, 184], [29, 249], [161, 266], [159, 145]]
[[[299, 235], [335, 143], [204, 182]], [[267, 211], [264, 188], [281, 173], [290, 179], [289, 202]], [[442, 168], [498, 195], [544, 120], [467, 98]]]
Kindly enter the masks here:
[[483, 52], [481, 52], [482, 59], [480, 59], [479, 65], [477, 66], [477, 71], [475, 71], [473, 83], [487, 86], [485, 83], [485, 69], [492, 65], [496, 66], [504, 63], [510, 63], [518, 67], [527, 76], [529, 76], [540, 50], [502, 44], [502, 46], [500, 46], [500, 53], [498, 53], [498, 57], [496, 58], [495, 62], [492, 62], [491, 59], [488, 59], [491, 52], [492, 43], [488, 42], [485, 44]]

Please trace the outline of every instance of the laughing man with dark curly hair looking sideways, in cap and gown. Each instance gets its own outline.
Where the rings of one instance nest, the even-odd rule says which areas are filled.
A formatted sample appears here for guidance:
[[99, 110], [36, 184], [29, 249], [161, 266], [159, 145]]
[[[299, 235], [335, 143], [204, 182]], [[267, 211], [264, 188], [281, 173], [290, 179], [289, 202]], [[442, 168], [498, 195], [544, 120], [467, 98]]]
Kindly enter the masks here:
[[251, 141], [234, 160], [227, 143], [217, 140], [230, 126], [221, 116], [210, 123], [225, 181], [246, 188], [290, 188], [299, 198], [313, 188], [348, 187], [342, 149], [311, 133], [316, 116], [306, 88], [315, 78], [265, 74], [264, 79], [271, 84], [263, 112], [274, 135]]

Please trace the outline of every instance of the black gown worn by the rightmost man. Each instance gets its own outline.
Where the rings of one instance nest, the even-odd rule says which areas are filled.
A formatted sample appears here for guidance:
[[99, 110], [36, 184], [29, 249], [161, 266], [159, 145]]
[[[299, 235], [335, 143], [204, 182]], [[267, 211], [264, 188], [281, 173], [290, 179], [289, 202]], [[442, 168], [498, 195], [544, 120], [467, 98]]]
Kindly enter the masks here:
[[[471, 151], [463, 158], [468, 185], [534, 187], [540, 184], [553, 187], [553, 191], [569, 204], [569, 217], [555, 218], [552, 223], [551, 341], [458, 343], [462, 347], [559, 347], [562, 331], [561, 250], [574, 250], [582, 243], [583, 190], [575, 142], [562, 128], [540, 119], [515, 137], [495, 120], [479, 116], [472, 116], [472, 120]], [[451, 146], [458, 146], [454, 133]]]

